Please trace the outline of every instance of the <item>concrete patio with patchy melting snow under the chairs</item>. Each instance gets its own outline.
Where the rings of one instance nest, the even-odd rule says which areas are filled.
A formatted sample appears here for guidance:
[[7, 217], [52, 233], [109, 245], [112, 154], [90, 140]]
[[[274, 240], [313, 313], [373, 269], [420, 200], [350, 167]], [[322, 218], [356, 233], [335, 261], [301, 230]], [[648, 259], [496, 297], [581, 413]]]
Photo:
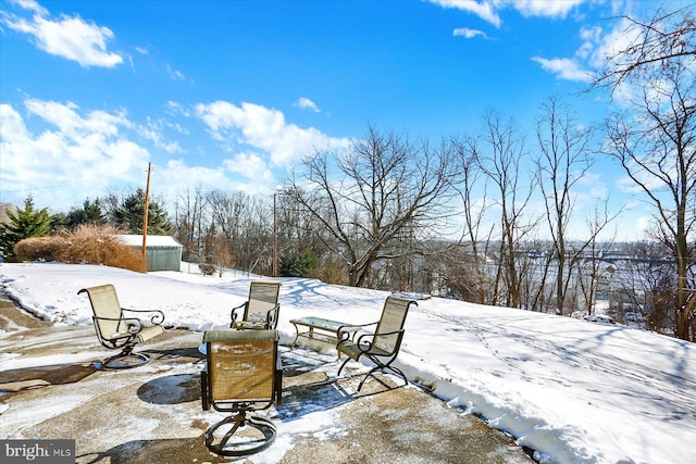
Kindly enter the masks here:
[[[268, 412], [276, 442], [241, 460], [211, 454], [202, 411], [200, 333], [170, 330], [140, 347], [152, 361], [101, 371], [111, 352], [91, 326], [55, 327], [0, 301], [0, 428], [5, 439], [74, 439], [77, 463], [530, 463], [513, 440], [396, 378], [365, 383], [362, 366], [336, 378], [332, 353], [282, 347], [283, 404]], [[397, 385], [398, 384], [398, 385]], [[387, 388], [390, 387], [390, 388]], [[328, 412], [327, 427], [298, 427]], [[334, 417], [334, 416], [332, 416]], [[307, 421], [304, 421], [307, 423]]]

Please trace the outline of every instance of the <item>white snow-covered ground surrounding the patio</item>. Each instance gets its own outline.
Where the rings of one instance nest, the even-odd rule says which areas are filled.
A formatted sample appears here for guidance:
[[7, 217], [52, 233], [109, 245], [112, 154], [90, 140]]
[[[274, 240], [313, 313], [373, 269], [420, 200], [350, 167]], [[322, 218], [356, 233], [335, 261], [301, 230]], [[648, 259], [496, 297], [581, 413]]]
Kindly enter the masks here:
[[[25, 309], [54, 324], [91, 324], [87, 297], [77, 291], [113, 284], [124, 308], [162, 310], [167, 325], [226, 327], [250, 279], [189, 274], [187, 265], [183, 271], [142, 275], [95, 265], [2, 263], [0, 283]], [[374, 322], [388, 294], [281, 280], [278, 330], [286, 343], [295, 338], [294, 317]], [[438, 298], [418, 303], [397, 365], [449, 404], [536, 450], [538, 461], [696, 463], [696, 344], [520, 310]], [[11, 368], [13, 360], [2, 360], [2, 369]]]

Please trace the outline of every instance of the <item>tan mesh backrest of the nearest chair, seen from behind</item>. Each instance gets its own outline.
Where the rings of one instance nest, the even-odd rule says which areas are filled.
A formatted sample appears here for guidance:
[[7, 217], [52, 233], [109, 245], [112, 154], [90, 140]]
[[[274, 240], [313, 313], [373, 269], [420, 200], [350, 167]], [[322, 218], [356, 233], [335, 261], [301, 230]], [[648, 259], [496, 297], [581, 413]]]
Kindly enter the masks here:
[[[263, 409], [276, 389], [277, 330], [208, 330], [209, 399], [219, 411]], [[263, 403], [254, 407], [254, 403]]]

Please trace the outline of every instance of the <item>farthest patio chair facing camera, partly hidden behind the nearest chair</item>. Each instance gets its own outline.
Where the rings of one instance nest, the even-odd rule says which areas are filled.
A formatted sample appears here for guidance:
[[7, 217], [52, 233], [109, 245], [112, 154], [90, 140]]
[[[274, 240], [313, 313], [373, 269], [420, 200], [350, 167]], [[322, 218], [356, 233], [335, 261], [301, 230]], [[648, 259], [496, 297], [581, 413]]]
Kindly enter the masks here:
[[281, 311], [279, 292], [279, 281], [251, 281], [249, 299], [244, 304], [233, 308], [229, 327], [241, 330], [275, 330]]

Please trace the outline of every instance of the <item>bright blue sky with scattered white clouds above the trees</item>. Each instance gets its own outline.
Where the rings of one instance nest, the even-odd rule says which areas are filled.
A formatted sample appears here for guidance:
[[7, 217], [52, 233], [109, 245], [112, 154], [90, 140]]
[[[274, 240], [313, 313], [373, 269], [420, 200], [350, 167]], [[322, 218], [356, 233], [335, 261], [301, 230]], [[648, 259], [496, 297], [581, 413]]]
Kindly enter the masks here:
[[[580, 91], [621, 40], [618, 15], [646, 4], [0, 0], [0, 201], [67, 211], [144, 187], [148, 163], [171, 202], [197, 186], [270, 193], [369, 124], [438, 140], [495, 110], [532, 142], [549, 96], [599, 123], [609, 102]], [[632, 201], [609, 161], [589, 174], [594, 198]], [[622, 237], [645, 223], [633, 204]]]

